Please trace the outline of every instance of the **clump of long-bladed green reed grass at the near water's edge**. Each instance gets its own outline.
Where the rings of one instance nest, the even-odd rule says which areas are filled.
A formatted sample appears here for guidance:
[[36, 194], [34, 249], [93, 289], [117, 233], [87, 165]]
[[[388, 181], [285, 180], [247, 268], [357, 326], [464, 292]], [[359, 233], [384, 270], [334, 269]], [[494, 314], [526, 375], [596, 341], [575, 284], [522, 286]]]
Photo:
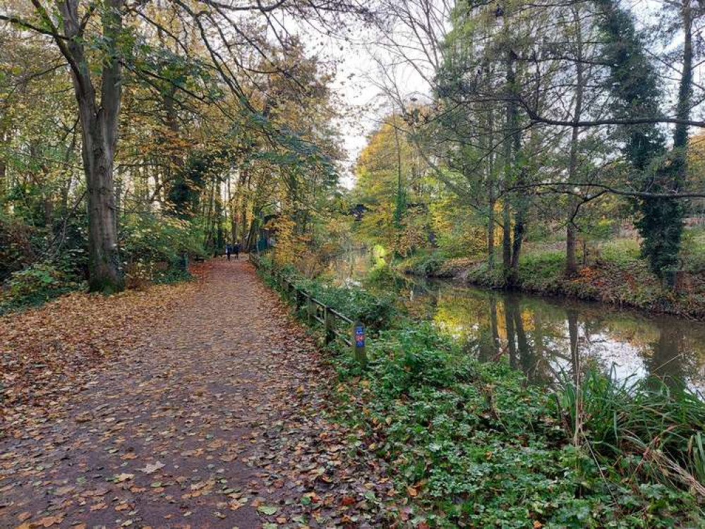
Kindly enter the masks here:
[[705, 403], [656, 377], [589, 370], [559, 384], [558, 415], [575, 444], [630, 482], [686, 487], [705, 501]]

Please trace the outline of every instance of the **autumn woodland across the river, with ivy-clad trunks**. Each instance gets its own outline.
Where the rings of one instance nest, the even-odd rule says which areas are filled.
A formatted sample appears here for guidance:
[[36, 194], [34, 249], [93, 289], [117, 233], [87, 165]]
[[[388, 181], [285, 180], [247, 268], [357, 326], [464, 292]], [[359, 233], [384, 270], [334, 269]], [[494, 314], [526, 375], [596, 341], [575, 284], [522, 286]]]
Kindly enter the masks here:
[[[652, 274], [701, 272], [684, 228], [703, 208], [699, 4], [402, 12], [378, 60], [390, 114], [356, 168], [365, 233], [402, 256], [483, 254], [486, 278], [520, 284], [527, 241], [562, 243], [552, 272], [570, 277], [629, 224]], [[431, 99], [404, 92], [399, 64]]]

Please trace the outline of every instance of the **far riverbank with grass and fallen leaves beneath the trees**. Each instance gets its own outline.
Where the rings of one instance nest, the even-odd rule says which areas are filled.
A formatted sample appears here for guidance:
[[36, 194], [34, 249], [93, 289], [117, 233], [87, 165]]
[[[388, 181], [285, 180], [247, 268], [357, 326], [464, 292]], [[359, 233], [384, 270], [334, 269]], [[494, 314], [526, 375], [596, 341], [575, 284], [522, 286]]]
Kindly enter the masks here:
[[[704, 255], [693, 257], [705, 259]], [[490, 270], [484, 258], [449, 259], [440, 253], [411, 257], [395, 267], [405, 274], [464, 281], [487, 288], [507, 288], [500, 266]], [[639, 257], [635, 241], [615, 241], [565, 276], [565, 255], [555, 248], [527, 248], [512, 288], [545, 296], [600, 301], [648, 312], [705, 320], [705, 274], [698, 265], [685, 269], [677, 290], [664, 288]]]

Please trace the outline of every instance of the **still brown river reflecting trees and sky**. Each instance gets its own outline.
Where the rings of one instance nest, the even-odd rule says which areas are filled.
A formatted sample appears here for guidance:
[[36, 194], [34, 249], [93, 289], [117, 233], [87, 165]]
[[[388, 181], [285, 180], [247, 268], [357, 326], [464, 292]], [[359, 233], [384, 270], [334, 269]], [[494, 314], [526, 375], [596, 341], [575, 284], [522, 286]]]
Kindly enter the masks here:
[[[351, 252], [332, 261], [330, 273], [358, 283], [372, 265], [368, 253]], [[505, 358], [531, 383], [593, 366], [620, 380], [656, 375], [705, 394], [705, 323], [439, 279], [405, 277], [391, 290], [411, 315], [434, 322], [469, 354]]]

